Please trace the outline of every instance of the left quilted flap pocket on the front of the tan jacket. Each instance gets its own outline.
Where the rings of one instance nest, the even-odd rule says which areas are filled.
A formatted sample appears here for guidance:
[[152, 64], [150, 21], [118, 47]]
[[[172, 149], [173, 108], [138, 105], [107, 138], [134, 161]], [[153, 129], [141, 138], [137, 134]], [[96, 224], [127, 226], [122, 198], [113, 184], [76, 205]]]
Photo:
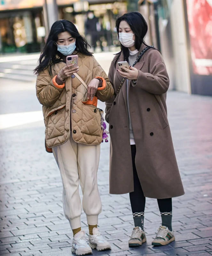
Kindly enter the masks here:
[[64, 135], [66, 104], [51, 109], [47, 114], [46, 140]]

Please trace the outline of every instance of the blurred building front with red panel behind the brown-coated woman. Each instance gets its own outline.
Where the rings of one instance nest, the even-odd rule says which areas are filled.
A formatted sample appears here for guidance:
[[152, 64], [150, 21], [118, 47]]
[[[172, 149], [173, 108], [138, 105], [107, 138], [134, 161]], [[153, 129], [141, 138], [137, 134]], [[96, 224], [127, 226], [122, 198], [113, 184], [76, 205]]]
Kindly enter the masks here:
[[212, 95], [212, 0], [139, 0], [171, 89]]

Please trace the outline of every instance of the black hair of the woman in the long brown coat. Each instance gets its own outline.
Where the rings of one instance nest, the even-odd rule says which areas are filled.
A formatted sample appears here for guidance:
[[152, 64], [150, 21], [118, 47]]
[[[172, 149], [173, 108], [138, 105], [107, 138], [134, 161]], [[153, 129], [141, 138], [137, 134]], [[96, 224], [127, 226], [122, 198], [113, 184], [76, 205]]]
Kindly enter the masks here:
[[[147, 23], [146, 23], [144, 17], [139, 12], [128, 12], [128, 13], [125, 13], [124, 15], [122, 15], [121, 17], [119, 17], [115, 23], [118, 35], [119, 35], [119, 25], [122, 20], [125, 20], [129, 24], [130, 28], [132, 29], [132, 32], [135, 34], [136, 49], [139, 50], [142, 43], [145, 44], [146, 46], [148, 46], [144, 42], [144, 37], [145, 37], [147, 29], [148, 29], [148, 26], [147, 26]], [[124, 47], [121, 44], [121, 52], [118, 52], [116, 54], [117, 58], [115, 60], [115, 64], [122, 52], [124, 55], [124, 60], [128, 61], [128, 58], [130, 55], [129, 49], [127, 47]]]

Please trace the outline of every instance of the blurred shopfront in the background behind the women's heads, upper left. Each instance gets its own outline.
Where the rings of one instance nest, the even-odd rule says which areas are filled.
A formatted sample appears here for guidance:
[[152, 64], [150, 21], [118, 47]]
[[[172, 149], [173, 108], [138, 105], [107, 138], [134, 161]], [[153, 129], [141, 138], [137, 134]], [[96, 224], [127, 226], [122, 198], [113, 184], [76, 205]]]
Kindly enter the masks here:
[[[44, 0], [4, 0], [0, 4], [0, 52], [39, 52], [48, 33]], [[103, 46], [118, 44], [114, 32], [118, 14], [127, 11], [126, 0], [57, 0], [59, 19], [75, 23], [81, 34], [90, 10], [99, 19]]]

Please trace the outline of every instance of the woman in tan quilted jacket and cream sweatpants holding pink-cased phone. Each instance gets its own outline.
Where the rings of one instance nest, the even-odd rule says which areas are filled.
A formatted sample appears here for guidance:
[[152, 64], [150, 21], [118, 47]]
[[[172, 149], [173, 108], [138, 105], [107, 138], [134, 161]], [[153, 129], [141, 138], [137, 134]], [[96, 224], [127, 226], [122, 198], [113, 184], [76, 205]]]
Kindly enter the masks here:
[[[88, 43], [68, 20], [58, 20], [47, 38], [37, 74], [36, 95], [43, 105], [46, 148], [51, 149], [63, 183], [63, 208], [73, 230], [72, 252], [110, 249], [97, 228], [101, 199], [97, 171], [102, 141], [97, 99], [109, 100], [114, 90], [106, 73], [87, 50]], [[68, 55], [78, 65], [67, 65]], [[79, 196], [82, 187], [82, 206]], [[89, 245], [81, 230], [82, 207], [89, 226]]]

